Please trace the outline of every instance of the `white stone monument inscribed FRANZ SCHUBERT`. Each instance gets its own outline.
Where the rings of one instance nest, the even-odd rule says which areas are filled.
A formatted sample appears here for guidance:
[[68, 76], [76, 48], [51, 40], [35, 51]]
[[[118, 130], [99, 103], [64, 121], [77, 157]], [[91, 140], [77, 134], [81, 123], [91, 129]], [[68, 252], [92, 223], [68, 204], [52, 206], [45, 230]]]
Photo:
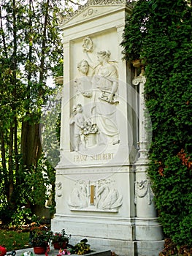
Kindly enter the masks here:
[[[127, 1], [88, 1], [61, 20], [61, 161], [52, 230], [118, 255], [158, 255], [164, 241], [146, 176], [145, 75], [122, 58]], [[139, 150], [138, 150], [139, 142]]]

